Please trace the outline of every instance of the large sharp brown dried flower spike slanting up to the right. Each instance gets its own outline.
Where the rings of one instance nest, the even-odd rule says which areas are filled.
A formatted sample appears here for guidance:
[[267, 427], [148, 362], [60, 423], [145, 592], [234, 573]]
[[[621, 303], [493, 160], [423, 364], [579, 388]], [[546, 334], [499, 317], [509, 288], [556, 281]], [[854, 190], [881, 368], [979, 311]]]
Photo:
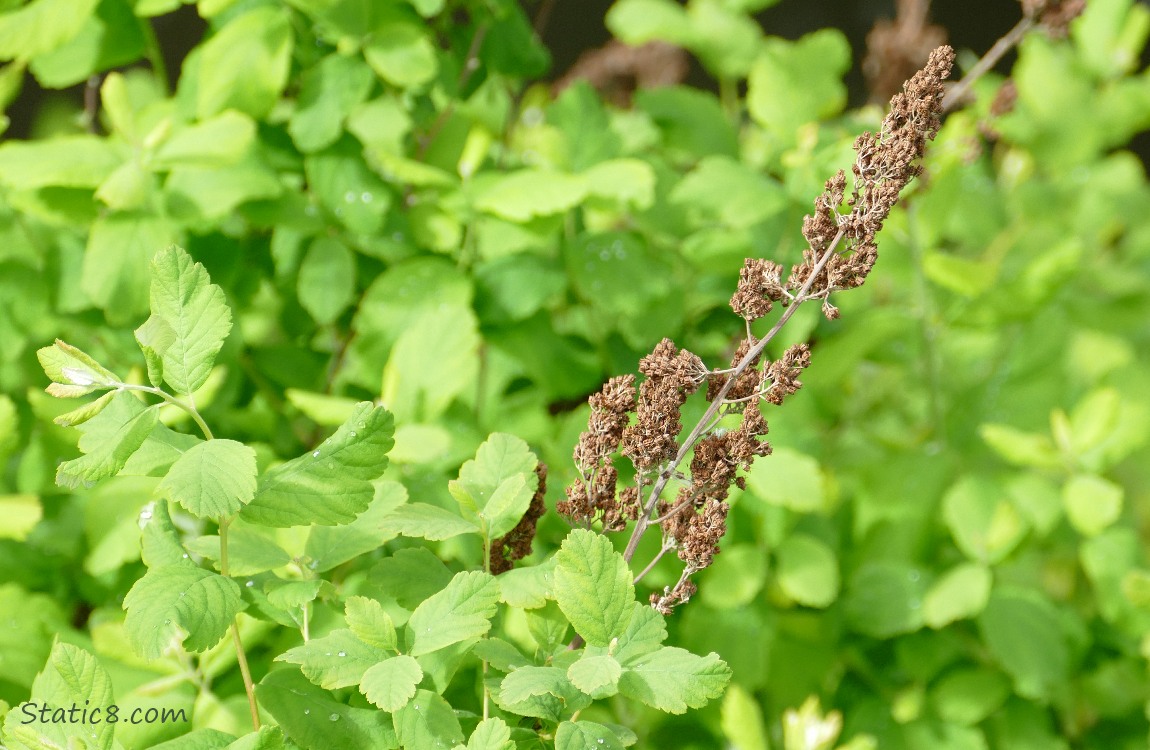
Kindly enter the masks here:
[[[697, 355], [665, 338], [639, 361], [645, 377], [637, 399], [632, 376], [612, 378], [590, 398], [588, 430], [575, 447], [580, 479], [567, 488], [559, 512], [585, 526], [601, 521], [604, 530], [621, 530], [628, 520], [637, 521], [624, 552], [628, 560], [646, 529], [658, 523], [662, 550], [651, 565], [670, 550], [684, 564], [675, 586], [651, 595], [659, 612], [669, 613], [693, 595], [691, 575], [712, 564], [727, 531], [730, 488], [743, 488], [754, 459], [770, 453], [762, 401], [780, 405], [803, 385], [799, 376], [811, 363], [810, 347], [795, 344], [779, 359], [764, 361], [766, 345], [798, 304], [820, 299], [827, 316], [836, 317], [831, 292], [866, 280], [877, 258], [875, 235], [899, 192], [919, 174], [917, 162], [940, 128], [943, 81], [953, 60], [950, 47], [935, 49], [905, 92], [892, 99], [881, 130], [858, 138], [850, 197], [842, 171], [827, 182], [814, 214], [803, 223], [808, 243], [804, 261], [793, 266], [785, 282], [777, 263], [746, 260], [730, 306], [747, 322], [747, 334], [729, 368], [708, 370]], [[839, 213], [844, 200], [849, 213]], [[750, 323], [770, 313], [775, 303], [788, 309], [765, 338], [757, 338]], [[711, 405], [681, 447], [683, 405], [704, 381]], [[737, 428], [719, 427], [721, 418], [735, 414], [742, 416]], [[616, 451], [630, 459], [636, 472], [635, 483], [622, 492], [612, 464]], [[689, 476], [680, 468], [687, 456], [691, 456]], [[661, 493], [670, 482], [681, 484], [674, 500], [665, 500]]]

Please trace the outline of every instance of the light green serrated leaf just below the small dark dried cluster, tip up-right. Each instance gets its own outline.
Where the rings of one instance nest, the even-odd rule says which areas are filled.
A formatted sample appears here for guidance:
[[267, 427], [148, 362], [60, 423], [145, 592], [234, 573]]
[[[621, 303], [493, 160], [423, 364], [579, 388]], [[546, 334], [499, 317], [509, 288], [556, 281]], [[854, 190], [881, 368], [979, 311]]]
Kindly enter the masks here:
[[477, 638], [491, 629], [499, 582], [481, 571], [458, 573], [443, 591], [415, 607], [407, 621], [412, 656]]

